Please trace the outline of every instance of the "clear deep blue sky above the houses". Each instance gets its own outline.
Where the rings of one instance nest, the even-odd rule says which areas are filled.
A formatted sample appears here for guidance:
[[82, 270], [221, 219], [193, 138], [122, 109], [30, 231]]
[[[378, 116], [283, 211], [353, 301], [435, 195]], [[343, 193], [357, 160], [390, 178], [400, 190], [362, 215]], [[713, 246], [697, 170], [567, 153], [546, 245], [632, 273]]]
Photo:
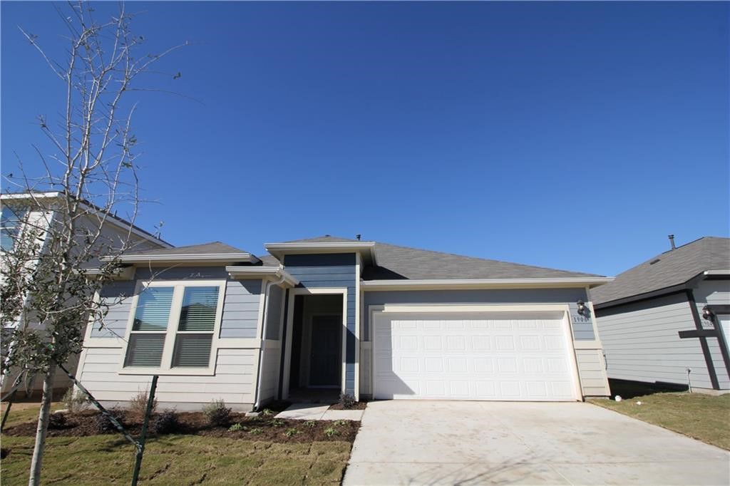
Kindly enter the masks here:
[[[115, 4], [97, 5], [101, 17]], [[130, 2], [146, 204], [176, 245], [321, 234], [617, 274], [730, 233], [729, 4]], [[61, 85], [47, 3], [1, 6], [1, 161]], [[3, 184], [3, 187], [6, 187]]]

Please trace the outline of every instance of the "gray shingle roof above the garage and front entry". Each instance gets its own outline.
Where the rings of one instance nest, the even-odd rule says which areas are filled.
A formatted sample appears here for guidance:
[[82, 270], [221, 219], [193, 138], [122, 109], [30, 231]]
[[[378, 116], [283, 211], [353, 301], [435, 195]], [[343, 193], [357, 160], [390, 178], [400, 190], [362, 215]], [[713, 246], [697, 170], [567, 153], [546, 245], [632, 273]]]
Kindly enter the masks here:
[[[336, 236], [318, 236], [290, 243], [358, 242]], [[364, 280], [386, 279], [523, 279], [561, 277], [600, 277], [576, 271], [546, 269], [453, 253], [418, 250], [395, 244], [375, 242], [377, 266], [366, 267]]]

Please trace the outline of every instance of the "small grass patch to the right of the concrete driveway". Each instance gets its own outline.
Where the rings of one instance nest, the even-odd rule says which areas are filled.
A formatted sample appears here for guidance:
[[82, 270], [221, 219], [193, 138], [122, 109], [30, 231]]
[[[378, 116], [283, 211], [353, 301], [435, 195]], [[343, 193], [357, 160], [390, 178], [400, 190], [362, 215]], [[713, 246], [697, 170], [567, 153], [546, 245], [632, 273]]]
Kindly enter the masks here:
[[[642, 404], [637, 405], [637, 401]], [[730, 450], [730, 395], [653, 393], [619, 402], [591, 403]]]

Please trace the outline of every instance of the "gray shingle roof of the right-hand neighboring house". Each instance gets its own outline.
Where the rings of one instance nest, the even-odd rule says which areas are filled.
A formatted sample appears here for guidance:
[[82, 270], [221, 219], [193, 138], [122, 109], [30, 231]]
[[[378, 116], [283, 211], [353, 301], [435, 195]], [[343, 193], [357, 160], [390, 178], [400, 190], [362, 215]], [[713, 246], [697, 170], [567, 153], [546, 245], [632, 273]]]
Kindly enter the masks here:
[[730, 238], [704, 236], [618, 274], [613, 282], [592, 290], [591, 297], [594, 305], [604, 305], [675, 288], [705, 271], [727, 269]]

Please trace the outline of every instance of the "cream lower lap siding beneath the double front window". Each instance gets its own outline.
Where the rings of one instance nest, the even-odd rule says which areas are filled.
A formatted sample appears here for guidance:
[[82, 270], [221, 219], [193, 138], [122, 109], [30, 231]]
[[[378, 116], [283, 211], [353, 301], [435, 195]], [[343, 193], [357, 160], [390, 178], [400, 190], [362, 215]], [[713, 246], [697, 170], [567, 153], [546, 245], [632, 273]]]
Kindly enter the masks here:
[[[118, 374], [120, 348], [88, 348], [80, 376], [99, 401], [128, 401], [149, 390], [151, 377]], [[223, 398], [226, 404], [253, 404], [258, 350], [218, 350], [214, 376], [161, 376], [156, 396], [161, 403], [203, 404]]]

